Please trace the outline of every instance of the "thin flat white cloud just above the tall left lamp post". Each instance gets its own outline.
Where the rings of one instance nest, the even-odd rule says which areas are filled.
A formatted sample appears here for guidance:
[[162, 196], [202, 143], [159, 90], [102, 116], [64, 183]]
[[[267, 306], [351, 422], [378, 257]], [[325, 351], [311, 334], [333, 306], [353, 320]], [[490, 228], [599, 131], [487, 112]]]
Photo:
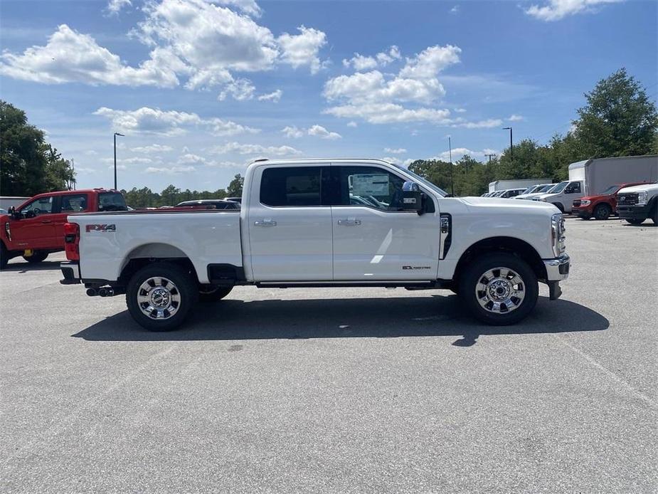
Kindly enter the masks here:
[[221, 118], [201, 118], [196, 113], [163, 111], [159, 108], [141, 107], [138, 110], [112, 110], [100, 107], [94, 115], [106, 117], [112, 122], [112, 128], [119, 132], [140, 132], [156, 135], [182, 135], [189, 127], [203, 127], [207, 132], [217, 136], [230, 136], [244, 133], [256, 133], [258, 129], [240, 125]]

